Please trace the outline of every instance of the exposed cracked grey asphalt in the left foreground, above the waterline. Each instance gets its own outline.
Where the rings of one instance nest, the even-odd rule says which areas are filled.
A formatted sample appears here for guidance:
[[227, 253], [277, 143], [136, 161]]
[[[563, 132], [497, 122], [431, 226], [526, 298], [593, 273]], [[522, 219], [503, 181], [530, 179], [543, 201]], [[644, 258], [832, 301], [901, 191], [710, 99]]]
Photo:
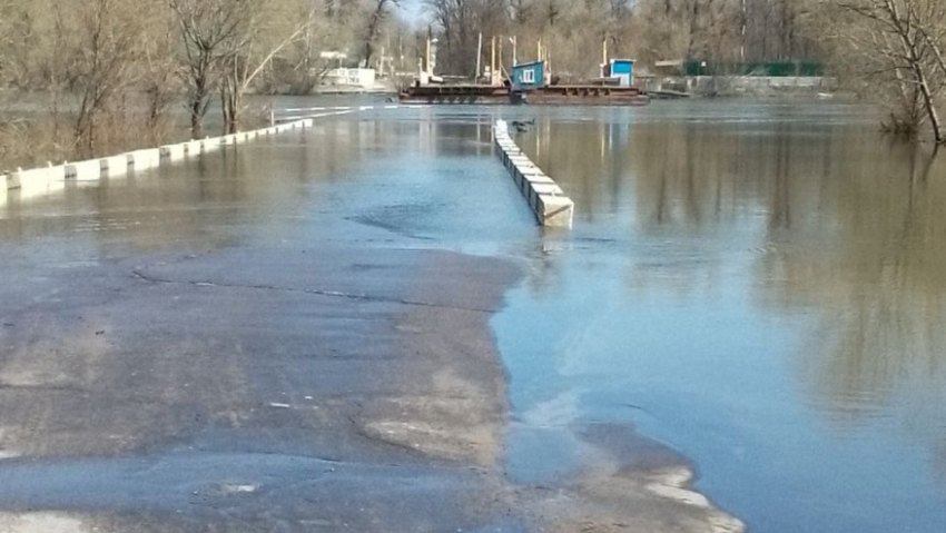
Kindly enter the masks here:
[[2, 275], [18, 279], [0, 295], [7, 511], [142, 531], [509, 529], [484, 332], [515, 268], [280, 248]]

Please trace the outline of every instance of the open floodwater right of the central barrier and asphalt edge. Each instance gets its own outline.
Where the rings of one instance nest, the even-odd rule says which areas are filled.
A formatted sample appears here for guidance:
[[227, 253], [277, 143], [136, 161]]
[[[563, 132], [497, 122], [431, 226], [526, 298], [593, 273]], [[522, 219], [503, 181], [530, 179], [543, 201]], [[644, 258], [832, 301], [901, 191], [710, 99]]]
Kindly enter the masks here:
[[946, 161], [865, 113], [540, 116], [521, 146], [577, 218], [495, 320], [513, 470], [630, 421], [750, 531], [946, 530]]

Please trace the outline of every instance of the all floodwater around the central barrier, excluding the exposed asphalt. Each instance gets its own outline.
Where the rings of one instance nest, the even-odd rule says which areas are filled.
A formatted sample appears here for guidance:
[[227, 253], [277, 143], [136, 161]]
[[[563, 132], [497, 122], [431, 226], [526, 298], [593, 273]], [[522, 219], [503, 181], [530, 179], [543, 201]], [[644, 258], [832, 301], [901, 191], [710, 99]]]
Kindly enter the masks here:
[[[295, 105], [297, 102], [293, 102]], [[288, 103], [286, 105], [288, 107]], [[535, 227], [495, 118], [575, 200]], [[634, 426], [750, 531], [946, 530], [946, 159], [837, 103], [424, 108], [323, 119], [148, 177], [11, 198], [7, 260], [265, 243], [510, 259], [492, 322], [522, 484]]]

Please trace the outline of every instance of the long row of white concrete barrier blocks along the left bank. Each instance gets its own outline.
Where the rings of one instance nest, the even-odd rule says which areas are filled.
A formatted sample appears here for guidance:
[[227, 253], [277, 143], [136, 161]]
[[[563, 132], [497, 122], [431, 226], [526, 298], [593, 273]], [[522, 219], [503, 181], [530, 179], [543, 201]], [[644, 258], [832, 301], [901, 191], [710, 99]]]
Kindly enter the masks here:
[[[352, 111], [346, 111], [352, 112]], [[342, 112], [323, 116], [344, 115]], [[179, 161], [187, 157], [199, 156], [219, 149], [247, 142], [263, 136], [282, 131], [311, 128], [312, 118], [303, 118], [292, 122], [280, 124], [269, 128], [242, 131], [223, 137], [207, 137], [203, 140], [189, 140], [159, 148], [134, 150], [117, 156], [89, 159], [86, 161], [67, 161], [59, 166], [17, 169], [13, 172], [0, 174], [0, 207], [11, 198], [11, 193], [20, 199], [32, 198], [45, 194], [62, 190], [70, 181], [98, 181], [102, 178], [125, 176], [130, 171], [141, 171]]]

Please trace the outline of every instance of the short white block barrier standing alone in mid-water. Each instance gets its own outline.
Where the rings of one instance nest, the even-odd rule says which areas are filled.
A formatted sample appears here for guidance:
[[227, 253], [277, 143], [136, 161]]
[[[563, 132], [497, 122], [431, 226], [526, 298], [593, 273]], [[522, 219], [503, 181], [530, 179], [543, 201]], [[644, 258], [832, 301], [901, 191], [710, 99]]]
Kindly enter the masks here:
[[570, 228], [574, 218], [574, 201], [565, 196], [552, 178], [522, 154], [509, 136], [509, 125], [505, 120], [496, 120], [493, 137], [503, 165], [512, 174], [515, 185], [529, 201], [529, 207], [532, 208], [539, 224]]

